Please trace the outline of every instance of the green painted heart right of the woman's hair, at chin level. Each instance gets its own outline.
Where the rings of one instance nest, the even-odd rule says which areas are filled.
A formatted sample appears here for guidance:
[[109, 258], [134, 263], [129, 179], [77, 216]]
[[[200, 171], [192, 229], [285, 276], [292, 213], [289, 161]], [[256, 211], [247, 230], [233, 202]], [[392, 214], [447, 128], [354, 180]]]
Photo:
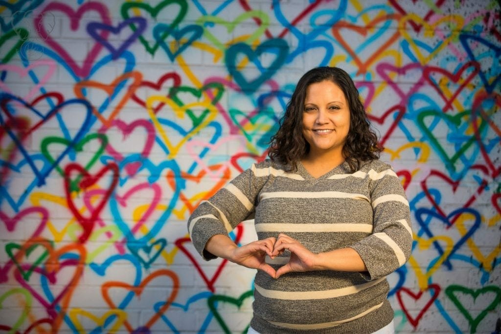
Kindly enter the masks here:
[[[458, 113], [456, 115], [447, 115], [444, 114], [443, 112], [435, 111], [435, 110], [426, 110], [419, 115], [417, 115], [417, 125], [421, 129], [421, 131], [426, 134], [428, 139], [430, 140], [432, 147], [437, 151], [437, 153], [442, 157], [442, 159], [445, 161], [446, 168], [452, 171], [456, 171], [456, 167], [454, 164], [457, 162], [457, 160], [468, 150], [468, 148], [476, 142], [476, 138], [474, 135], [471, 135], [470, 138], [464, 143], [459, 150], [457, 150], [452, 157], [449, 157], [443, 147], [440, 145], [439, 139], [435, 137], [432, 131], [430, 131], [426, 125], [424, 124], [424, 118], [433, 116], [433, 117], [438, 117], [443, 119], [449, 127], [455, 126], [458, 128], [462, 122], [469, 122], [471, 118], [471, 110], [466, 110], [461, 113]], [[466, 118], [463, 120], [463, 118]], [[483, 128], [487, 125], [487, 122], [481, 117], [477, 118], [480, 121], [480, 125], [478, 126], [478, 132], [481, 132]]]

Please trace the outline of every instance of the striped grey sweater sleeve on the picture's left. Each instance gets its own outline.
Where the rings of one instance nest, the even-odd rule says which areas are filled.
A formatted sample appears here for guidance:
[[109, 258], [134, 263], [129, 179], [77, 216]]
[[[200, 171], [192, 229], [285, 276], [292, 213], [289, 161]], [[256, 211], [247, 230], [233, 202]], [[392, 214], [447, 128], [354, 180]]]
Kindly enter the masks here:
[[263, 179], [256, 176], [256, 165], [253, 164], [193, 211], [188, 219], [188, 233], [203, 259], [216, 258], [205, 250], [210, 237], [228, 235], [236, 225], [254, 213]]

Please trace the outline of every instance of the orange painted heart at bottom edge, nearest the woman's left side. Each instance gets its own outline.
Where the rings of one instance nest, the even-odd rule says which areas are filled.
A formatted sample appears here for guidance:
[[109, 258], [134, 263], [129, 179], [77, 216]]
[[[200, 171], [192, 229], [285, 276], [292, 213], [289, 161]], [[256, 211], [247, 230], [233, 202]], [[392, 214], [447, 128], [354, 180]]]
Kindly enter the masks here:
[[[101, 290], [102, 290], [102, 293], [103, 293], [103, 298], [106, 301], [106, 303], [110, 306], [111, 309], [117, 309], [118, 308], [117, 304], [110, 297], [109, 290], [111, 288], [114, 288], [114, 289], [125, 289], [127, 291], [132, 291], [132, 292], [134, 292], [135, 296], [138, 299], [140, 299], [141, 298], [141, 294], [145, 290], [149, 290], [148, 289], [148, 284], [150, 282], [152, 282], [152, 281], [155, 281], [159, 277], [170, 278], [170, 280], [168, 281], [167, 285], [165, 285], [165, 282], [162, 282], [162, 286], [164, 286], [164, 287], [168, 286], [169, 287], [168, 289], [165, 289], [165, 288], [162, 289], [162, 291], [167, 291], [167, 293], [165, 295], [165, 299], [162, 299], [162, 301], [164, 301], [164, 304], [158, 309], [157, 312], [154, 313], [153, 316], [151, 316], [146, 321], [146, 323], [144, 323], [142, 326], [139, 326], [137, 328], [134, 328], [130, 324], [129, 320], [125, 319], [124, 325], [127, 328], [127, 330], [129, 330], [129, 332], [137, 332], [137, 333], [139, 333], [141, 331], [139, 331], [138, 329], [141, 329], [141, 328], [146, 329], [147, 331], [149, 331], [148, 328], [150, 328], [160, 318], [160, 316], [167, 311], [167, 309], [170, 307], [170, 305], [172, 304], [172, 302], [176, 299], [177, 293], [179, 291], [179, 278], [178, 278], [177, 274], [174, 271], [172, 271], [172, 270], [159, 269], [159, 270], [153, 271], [151, 274], [149, 274], [139, 285], [129, 285], [127, 283], [120, 282], [120, 281], [108, 281], [108, 282], [105, 282], [101, 286]], [[155, 289], [155, 285], [154, 284], [152, 284], [152, 285], [153, 285], [153, 289]], [[155, 291], [153, 293], [156, 293], [156, 295], [158, 295], [158, 291], [157, 290], [153, 290], [153, 291]], [[161, 295], [158, 296], [158, 297], [159, 298], [163, 298]], [[144, 302], [146, 302], [148, 306], [142, 306], [142, 307], [150, 309], [151, 308], [151, 300], [149, 298], [147, 298], [147, 299], [144, 299]]]

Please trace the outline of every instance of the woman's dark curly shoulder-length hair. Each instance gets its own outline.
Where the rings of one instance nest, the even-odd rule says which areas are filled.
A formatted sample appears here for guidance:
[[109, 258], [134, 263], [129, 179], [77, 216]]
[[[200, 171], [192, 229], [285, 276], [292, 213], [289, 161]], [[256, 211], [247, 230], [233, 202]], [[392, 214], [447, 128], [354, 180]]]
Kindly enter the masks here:
[[306, 90], [311, 84], [322, 81], [331, 81], [341, 88], [348, 102], [350, 129], [343, 146], [343, 156], [351, 172], [355, 172], [363, 161], [378, 159], [383, 148], [367, 118], [355, 83], [348, 73], [337, 67], [317, 67], [301, 77], [280, 120], [280, 128], [271, 138], [268, 156], [296, 170], [298, 161], [308, 154], [310, 144], [303, 137]]

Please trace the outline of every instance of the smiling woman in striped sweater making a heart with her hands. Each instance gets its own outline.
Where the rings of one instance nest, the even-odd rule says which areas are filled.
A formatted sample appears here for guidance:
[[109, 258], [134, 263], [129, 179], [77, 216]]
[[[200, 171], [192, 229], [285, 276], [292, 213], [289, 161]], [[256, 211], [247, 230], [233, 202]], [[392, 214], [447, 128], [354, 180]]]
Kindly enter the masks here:
[[[296, 86], [270, 159], [194, 210], [188, 230], [203, 258], [259, 269], [249, 332], [393, 332], [385, 276], [409, 258], [412, 230], [381, 150], [350, 76], [315, 68]], [[238, 247], [228, 232], [250, 215], [258, 240]]]

